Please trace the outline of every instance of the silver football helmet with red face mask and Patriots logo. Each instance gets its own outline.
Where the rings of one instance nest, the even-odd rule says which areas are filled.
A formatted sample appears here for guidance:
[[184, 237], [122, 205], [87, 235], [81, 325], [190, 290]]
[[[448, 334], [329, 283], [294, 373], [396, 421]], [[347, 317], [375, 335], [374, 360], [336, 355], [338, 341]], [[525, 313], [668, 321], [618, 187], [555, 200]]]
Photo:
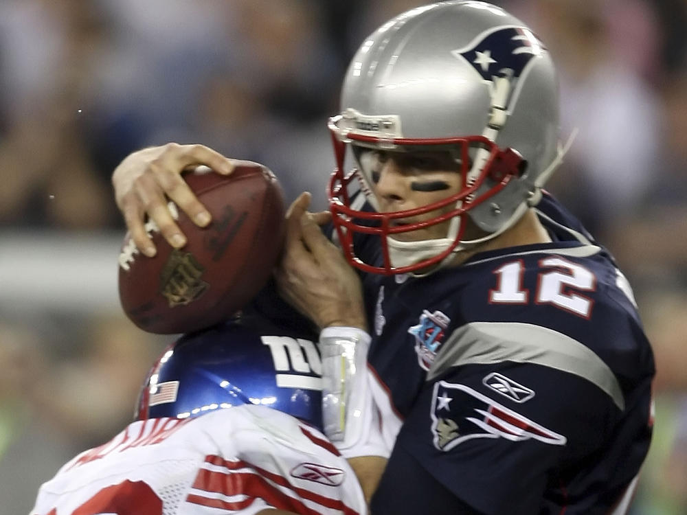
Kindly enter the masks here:
[[[526, 25], [495, 5], [432, 3], [379, 27], [353, 57], [341, 113], [329, 121], [337, 168], [328, 196], [348, 261], [375, 273], [416, 272], [511, 227], [539, 201], [561, 161], [558, 103], [549, 52]], [[348, 146], [357, 161], [350, 172], [344, 168]], [[448, 150], [461, 170], [462, 189], [420, 209], [379, 212], [366, 149]], [[364, 196], [355, 198], [356, 190]], [[365, 198], [376, 212], [361, 209]], [[394, 238], [420, 228], [394, 220], [438, 209], [442, 215], [421, 226], [450, 219], [445, 238]], [[466, 216], [480, 229], [478, 238], [464, 239]], [[381, 264], [356, 255], [356, 233], [379, 237]]]

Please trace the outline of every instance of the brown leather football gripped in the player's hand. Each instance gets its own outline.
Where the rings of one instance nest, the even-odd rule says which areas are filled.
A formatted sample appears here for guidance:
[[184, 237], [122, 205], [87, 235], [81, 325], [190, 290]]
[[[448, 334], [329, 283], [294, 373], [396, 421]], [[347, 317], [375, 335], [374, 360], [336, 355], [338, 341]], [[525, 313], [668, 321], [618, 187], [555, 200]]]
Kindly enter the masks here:
[[266, 284], [284, 242], [284, 195], [268, 168], [243, 161], [228, 176], [199, 167], [183, 177], [212, 222], [198, 227], [170, 202], [184, 247], [174, 249], [148, 220], [157, 254], [140, 253], [126, 233], [119, 258], [122, 308], [157, 334], [200, 330], [243, 308]]

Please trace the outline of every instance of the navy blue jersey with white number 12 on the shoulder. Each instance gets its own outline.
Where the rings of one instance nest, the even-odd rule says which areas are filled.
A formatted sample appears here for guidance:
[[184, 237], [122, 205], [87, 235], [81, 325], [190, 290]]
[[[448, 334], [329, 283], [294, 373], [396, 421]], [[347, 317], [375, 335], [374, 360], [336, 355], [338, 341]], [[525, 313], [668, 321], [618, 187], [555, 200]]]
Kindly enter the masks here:
[[537, 212], [550, 243], [363, 277], [396, 437], [374, 514], [627, 510], [651, 439], [651, 346], [611, 255], [550, 196]]

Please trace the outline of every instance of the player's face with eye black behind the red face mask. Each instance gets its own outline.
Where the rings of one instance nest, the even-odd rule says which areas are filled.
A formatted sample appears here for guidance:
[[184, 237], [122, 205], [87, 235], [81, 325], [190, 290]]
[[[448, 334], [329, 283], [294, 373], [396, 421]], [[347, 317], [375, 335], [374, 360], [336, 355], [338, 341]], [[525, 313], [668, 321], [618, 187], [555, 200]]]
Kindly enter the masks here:
[[[462, 165], [447, 150], [390, 152], [368, 150], [361, 156], [370, 170], [372, 191], [382, 212], [405, 211], [443, 200], [458, 193], [462, 187]], [[412, 218], [396, 220], [394, 224], [429, 220], [451, 211], [453, 204]], [[396, 233], [403, 241], [444, 238], [449, 222], [430, 225], [407, 233]]]

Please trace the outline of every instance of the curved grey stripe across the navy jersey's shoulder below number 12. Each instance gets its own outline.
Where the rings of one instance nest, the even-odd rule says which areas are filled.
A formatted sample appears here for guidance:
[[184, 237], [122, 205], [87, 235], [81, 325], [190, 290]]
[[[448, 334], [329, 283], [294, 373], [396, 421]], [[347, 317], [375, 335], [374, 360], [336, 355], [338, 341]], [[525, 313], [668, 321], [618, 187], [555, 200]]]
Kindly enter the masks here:
[[451, 367], [502, 361], [534, 363], [575, 374], [605, 391], [619, 409], [625, 401], [613, 371], [588, 347], [561, 332], [519, 322], [471, 322], [442, 345], [427, 380]]

